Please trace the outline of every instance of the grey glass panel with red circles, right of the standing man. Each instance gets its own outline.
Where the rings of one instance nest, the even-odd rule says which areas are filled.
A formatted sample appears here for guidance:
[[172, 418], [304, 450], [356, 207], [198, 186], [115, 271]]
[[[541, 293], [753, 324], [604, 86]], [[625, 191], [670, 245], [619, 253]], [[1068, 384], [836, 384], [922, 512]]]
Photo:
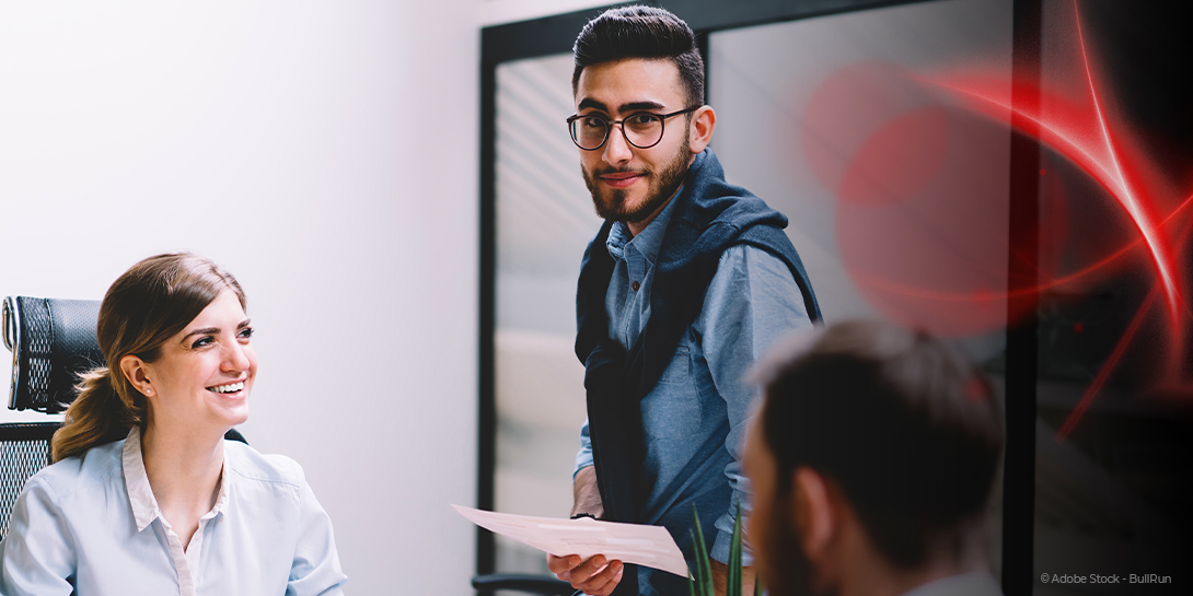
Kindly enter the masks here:
[[[925, 2], [709, 38], [712, 148], [730, 182], [791, 218], [826, 321], [928, 329], [996, 377], [1010, 134], [941, 85], [981, 64], [1009, 88], [1010, 8]], [[997, 575], [997, 498], [990, 521]]]

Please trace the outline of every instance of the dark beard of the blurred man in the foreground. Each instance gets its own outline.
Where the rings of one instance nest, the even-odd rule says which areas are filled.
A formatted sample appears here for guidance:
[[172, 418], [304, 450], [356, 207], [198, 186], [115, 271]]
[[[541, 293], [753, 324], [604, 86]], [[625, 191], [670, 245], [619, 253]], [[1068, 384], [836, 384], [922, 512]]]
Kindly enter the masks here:
[[[783, 501], [780, 501], [783, 502]], [[755, 564], [759, 576], [764, 577], [766, 592], [769, 596], [834, 596], [836, 590], [818, 591], [812, 585], [812, 565], [804, 553], [803, 541], [795, 532], [795, 520], [787, 507], [777, 508], [774, 520], [766, 523], [772, 529], [765, 545], [758, 545]]]

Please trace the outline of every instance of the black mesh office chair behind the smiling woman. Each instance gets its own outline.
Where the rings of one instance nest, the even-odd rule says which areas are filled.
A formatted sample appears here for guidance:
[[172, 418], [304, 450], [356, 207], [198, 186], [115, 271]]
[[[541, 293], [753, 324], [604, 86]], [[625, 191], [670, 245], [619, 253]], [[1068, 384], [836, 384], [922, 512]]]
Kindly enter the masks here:
[[[76, 397], [79, 375], [104, 364], [95, 341], [99, 300], [8, 297], [4, 344], [12, 350], [8, 409], [57, 414]], [[0, 424], [0, 539], [21, 488], [50, 462], [57, 422]], [[224, 439], [248, 443], [236, 429]]]

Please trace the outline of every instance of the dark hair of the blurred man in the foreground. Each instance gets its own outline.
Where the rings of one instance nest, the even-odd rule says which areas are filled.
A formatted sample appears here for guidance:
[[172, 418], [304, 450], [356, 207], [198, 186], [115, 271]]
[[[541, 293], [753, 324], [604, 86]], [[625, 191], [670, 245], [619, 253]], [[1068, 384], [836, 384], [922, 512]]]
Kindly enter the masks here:
[[854, 321], [764, 370], [762, 436], [778, 490], [808, 466], [840, 486], [878, 551], [910, 569], [960, 544], [984, 514], [1002, 454], [989, 383], [923, 333]]

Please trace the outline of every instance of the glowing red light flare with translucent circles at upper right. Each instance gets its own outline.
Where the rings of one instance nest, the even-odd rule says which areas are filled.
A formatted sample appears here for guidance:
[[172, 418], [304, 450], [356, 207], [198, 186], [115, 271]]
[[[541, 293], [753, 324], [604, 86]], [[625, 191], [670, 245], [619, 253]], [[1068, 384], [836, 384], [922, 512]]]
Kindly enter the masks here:
[[[811, 172], [836, 198], [847, 273], [871, 305], [903, 324], [942, 336], [988, 333], [1021, 315], [1008, 313], [1008, 303], [1019, 302], [1008, 298], [1090, 287], [1124, 268], [1146, 267], [1151, 292], [1057, 440], [1073, 432], [1132, 341], [1139, 343], [1145, 321], [1166, 334], [1148, 346], [1168, 352], [1157, 359], [1168, 370], [1157, 383], [1180, 383], [1193, 321], [1179, 259], [1193, 247], [1177, 232], [1193, 222], [1193, 194], [1174, 191], [1174, 174], [1149, 160], [1146, 144], [1100, 85], [1076, 2], [1071, 18], [1070, 68], [1041, 70], [1038, 87], [1006, 76], [922, 77], [888, 63], [855, 64], [811, 95], [801, 131]], [[1037, 279], [1010, 287], [1008, 129], [1045, 150]], [[1100, 188], [1118, 213], [1113, 234], [1080, 236], [1071, 226], [1080, 213], [1069, 206], [1065, 174]], [[1089, 205], [1098, 194], [1075, 199]]]

